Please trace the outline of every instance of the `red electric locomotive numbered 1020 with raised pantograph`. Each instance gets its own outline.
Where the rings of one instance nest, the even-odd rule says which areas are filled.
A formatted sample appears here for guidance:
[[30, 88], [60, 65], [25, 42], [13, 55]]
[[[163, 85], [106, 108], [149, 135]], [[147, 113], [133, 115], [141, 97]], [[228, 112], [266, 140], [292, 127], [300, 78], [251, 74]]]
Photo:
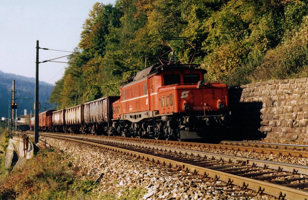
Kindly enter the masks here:
[[[205, 83], [198, 64], [176, 62], [169, 38], [160, 52], [160, 63], [138, 72], [120, 88], [113, 103], [113, 125], [109, 134], [160, 139], [207, 138], [229, 125], [228, 87]], [[170, 58], [164, 56], [170, 54]]]

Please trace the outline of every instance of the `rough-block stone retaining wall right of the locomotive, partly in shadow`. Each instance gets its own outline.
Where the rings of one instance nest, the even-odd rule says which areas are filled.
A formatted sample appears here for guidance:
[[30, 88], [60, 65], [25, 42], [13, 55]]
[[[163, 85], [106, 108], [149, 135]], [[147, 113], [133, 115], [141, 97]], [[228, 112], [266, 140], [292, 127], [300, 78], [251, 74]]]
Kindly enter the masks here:
[[229, 99], [236, 131], [247, 139], [308, 142], [307, 78], [233, 87]]

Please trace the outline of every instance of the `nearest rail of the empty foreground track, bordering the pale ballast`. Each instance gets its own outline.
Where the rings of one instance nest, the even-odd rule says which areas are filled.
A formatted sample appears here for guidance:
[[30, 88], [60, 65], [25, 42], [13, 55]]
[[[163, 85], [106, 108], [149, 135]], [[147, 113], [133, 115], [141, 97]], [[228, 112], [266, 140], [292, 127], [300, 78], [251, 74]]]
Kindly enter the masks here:
[[111, 147], [111, 146], [107, 146], [103, 144], [98, 144], [95, 142], [87, 142], [87, 141], [82, 141], [82, 140], [77, 140], [77, 139], [72, 139], [72, 138], [63, 138], [63, 137], [51, 136], [51, 135], [48, 135], [48, 137], [69, 140], [72, 142], [78, 142], [78, 143], [92, 145], [96, 147], [102, 147], [107, 150], [113, 150], [119, 153], [124, 153], [124, 154], [128, 154], [131, 156], [144, 158], [148, 161], [156, 162], [157, 164], [162, 163], [163, 165], [173, 166], [178, 169], [183, 169], [183, 170], [186, 169], [187, 171], [203, 175], [204, 177], [215, 178], [217, 180], [221, 180], [229, 184], [241, 186], [242, 188], [255, 190], [258, 193], [269, 194], [269, 195], [277, 197], [278, 199], [282, 199], [282, 198], [297, 199], [297, 200], [298, 199], [308, 199], [308, 192], [305, 192], [303, 190], [293, 189], [290, 187], [277, 185], [277, 184], [270, 183], [270, 182], [263, 182], [263, 181], [254, 180], [251, 178], [245, 178], [245, 177], [228, 174], [228, 173], [217, 171], [217, 170], [208, 169], [205, 167], [194, 166], [194, 165], [187, 164], [184, 162], [174, 161], [168, 158], [161, 158], [161, 157], [157, 157], [154, 155], [144, 154], [144, 153], [140, 153], [140, 152], [136, 152], [132, 150], [126, 150], [126, 149], [122, 149], [118, 147]]

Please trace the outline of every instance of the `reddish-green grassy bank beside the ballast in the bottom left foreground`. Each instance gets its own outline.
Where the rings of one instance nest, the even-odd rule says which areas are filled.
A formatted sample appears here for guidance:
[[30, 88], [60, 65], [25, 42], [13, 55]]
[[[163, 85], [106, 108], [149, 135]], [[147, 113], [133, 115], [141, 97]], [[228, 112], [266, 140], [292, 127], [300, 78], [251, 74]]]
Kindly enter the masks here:
[[0, 199], [124, 200], [140, 199], [145, 194], [139, 188], [102, 192], [93, 180], [78, 178], [71, 166], [64, 152], [41, 149], [24, 166], [3, 178]]

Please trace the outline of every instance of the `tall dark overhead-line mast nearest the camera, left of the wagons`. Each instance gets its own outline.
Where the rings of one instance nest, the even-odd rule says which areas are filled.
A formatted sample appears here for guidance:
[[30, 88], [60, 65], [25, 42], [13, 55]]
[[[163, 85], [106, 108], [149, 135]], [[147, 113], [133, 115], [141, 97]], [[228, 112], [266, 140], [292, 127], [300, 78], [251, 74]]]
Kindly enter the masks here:
[[34, 123], [34, 143], [39, 142], [39, 40], [36, 41], [36, 71], [35, 71], [35, 123]]

